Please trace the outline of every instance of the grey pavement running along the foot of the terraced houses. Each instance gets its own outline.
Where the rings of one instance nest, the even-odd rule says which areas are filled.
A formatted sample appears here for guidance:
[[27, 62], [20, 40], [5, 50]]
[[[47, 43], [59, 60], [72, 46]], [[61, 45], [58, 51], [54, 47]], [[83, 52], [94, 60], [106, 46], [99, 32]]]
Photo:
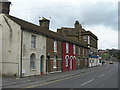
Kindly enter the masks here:
[[[10, 85], [17, 85], [17, 84], [23, 84], [23, 83], [29, 83], [29, 82], [35, 82], [35, 81], [43, 81], [43, 82], [49, 82], [54, 81], [57, 79], [65, 78], [74, 76], [77, 74], [90, 72], [96, 69], [104, 68], [106, 65], [97, 66], [97, 67], [91, 67], [91, 68], [84, 68], [74, 71], [68, 71], [68, 72], [60, 72], [60, 73], [54, 73], [54, 74], [48, 74], [48, 75], [39, 75], [39, 76], [31, 76], [31, 77], [24, 77], [24, 78], [2, 78], [2, 86], [10, 86]], [[0, 86], [1, 87], [1, 86]]]

